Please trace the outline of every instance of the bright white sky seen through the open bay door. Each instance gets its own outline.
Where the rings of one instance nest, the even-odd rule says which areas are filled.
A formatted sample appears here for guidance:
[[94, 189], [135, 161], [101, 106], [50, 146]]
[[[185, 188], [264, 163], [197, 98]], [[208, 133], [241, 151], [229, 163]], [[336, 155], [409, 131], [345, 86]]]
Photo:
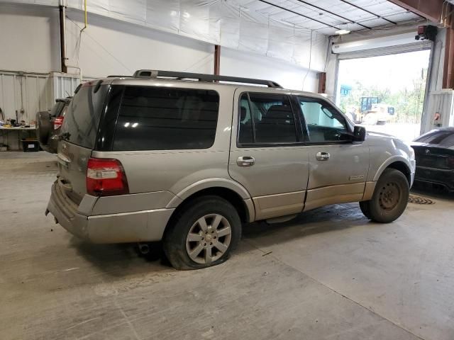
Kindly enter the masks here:
[[412, 80], [421, 77], [421, 69], [428, 67], [430, 50], [385, 55], [339, 63], [338, 84], [354, 86], [358, 80], [365, 86], [377, 85], [378, 89], [392, 92], [413, 87]]

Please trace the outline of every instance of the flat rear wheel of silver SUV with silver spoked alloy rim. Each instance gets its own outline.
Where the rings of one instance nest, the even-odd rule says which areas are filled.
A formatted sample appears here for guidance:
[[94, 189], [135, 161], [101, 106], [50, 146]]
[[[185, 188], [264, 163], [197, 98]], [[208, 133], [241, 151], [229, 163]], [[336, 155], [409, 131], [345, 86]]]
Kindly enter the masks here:
[[[213, 229], [211, 225], [216, 225], [215, 218], [217, 216], [221, 216], [219, 217], [221, 220], [218, 222], [218, 227], [222, 227], [223, 230], [229, 227], [230, 234], [228, 236], [219, 236], [216, 239], [216, 235], [221, 229], [216, 229], [218, 227]], [[211, 222], [210, 218], [212, 219]], [[201, 219], [204, 219], [206, 225], [208, 225], [209, 229], [207, 232], [204, 232], [199, 224]], [[192, 235], [199, 235], [201, 240], [187, 242], [189, 232]], [[214, 234], [211, 234], [212, 232]], [[208, 239], [208, 237], [210, 238]], [[189, 202], [182, 210], [177, 212], [175, 217], [172, 217], [163, 239], [164, 252], [174, 268], [180, 270], [206, 268], [226, 261], [230, 257], [231, 252], [236, 249], [240, 237], [241, 220], [236, 208], [227, 200], [218, 196], [202, 196]], [[227, 243], [228, 246], [226, 246]], [[213, 245], [210, 246], [210, 244]], [[218, 249], [216, 245], [222, 245], [223, 250]], [[201, 246], [204, 246], [204, 248], [200, 253], [197, 253], [201, 256], [196, 257], [194, 260], [189, 256], [189, 251], [192, 249], [194, 254]], [[209, 254], [212, 254], [212, 257]], [[211, 260], [206, 262], [208, 257]], [[205, 262], [201, 263], [201, 261]]]

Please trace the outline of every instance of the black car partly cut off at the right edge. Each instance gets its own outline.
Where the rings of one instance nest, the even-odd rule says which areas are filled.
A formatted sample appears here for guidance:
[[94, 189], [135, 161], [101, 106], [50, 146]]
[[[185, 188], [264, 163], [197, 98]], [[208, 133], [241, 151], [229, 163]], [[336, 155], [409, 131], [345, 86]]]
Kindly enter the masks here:
[[438, 128], [411, 143], [416, 158], [415, 182], [454, 191], [454, 128]]

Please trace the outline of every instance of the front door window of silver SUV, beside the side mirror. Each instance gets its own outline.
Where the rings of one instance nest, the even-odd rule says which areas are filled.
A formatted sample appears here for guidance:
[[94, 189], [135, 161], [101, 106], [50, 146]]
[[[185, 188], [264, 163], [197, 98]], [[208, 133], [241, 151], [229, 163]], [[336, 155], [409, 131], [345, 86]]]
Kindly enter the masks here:
[[345, 118], [321, 99], [299, 97], [301, 112], [309, 132], [309, 142], [340, 142], [350, 132]]

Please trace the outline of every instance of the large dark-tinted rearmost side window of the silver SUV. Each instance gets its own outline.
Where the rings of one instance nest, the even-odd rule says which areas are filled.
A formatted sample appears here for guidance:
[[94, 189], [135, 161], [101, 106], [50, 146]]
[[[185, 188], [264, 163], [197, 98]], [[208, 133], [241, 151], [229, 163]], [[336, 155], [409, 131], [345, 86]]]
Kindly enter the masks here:
[[216, 91], [126, 86], [114, 151], [208, 149], [214, 143]]

